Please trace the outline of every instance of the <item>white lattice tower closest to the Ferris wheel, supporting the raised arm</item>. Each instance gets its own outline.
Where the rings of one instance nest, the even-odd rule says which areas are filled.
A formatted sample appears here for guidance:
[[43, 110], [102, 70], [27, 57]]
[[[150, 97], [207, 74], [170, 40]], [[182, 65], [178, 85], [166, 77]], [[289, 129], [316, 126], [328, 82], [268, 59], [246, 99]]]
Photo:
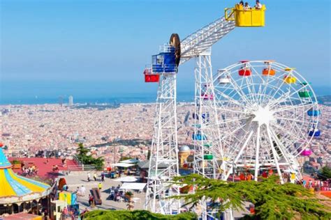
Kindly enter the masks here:
[[[203, 175], [206, 178], [224, 180], [225, 163], [223, 162], [223, 148], [221, 146], [221, 132], [219, 129], [218, 117], [216, 112], [216, 102], [214, 100], [214, 86], [213, 74], [212, 74], [212, 59], [211, 59], [211, 48], [207, 51], [196, 56], [196, 66], [194, 68], [196, 77], [195, 84], [195, 118], [194, 118], [194, 133], [193, 135], [200, 134], [201, 140], [194, 140], [194, 161], [193, 161], [193, 172]], [[207, 100], [205, 100], [207, 97]], [[203, 117], [205, 114], [205, 118]], [[198, 117], [198, 118], [197, 118]], [[204, 139], [204, 136], [207, 139]], [[207, 147], [205, 144], [211, 146]], [[204, 155], [213, 155], [211, 161], [204, 159]], [[217, 159], [222, 160], [221, 166], [219, 166]], [[206, 167], [207, 165], [207, 167]], [[205, 172], [206, 168], [212, 174]], [[219, 172], [221, 176], [217, 175]], [[203, 220], [207, 220], [208, 217], [214, 218], [207, 211], [207, 201], [202, 198], [198, 205], [201, 207]], [[233, 210], [226, 210], [226, 219], [233, 219]]]

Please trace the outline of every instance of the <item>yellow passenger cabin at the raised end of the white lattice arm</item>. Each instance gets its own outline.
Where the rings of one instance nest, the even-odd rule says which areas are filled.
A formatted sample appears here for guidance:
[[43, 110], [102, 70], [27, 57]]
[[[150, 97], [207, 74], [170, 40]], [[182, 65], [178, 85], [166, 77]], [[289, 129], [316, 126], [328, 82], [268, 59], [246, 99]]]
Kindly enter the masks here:
[[225, 9], [225, 18], [235, 21], [235, 26], [265, 26], [265, 10], [265, 5], [258, 9], [236, 4], [235, 8]]

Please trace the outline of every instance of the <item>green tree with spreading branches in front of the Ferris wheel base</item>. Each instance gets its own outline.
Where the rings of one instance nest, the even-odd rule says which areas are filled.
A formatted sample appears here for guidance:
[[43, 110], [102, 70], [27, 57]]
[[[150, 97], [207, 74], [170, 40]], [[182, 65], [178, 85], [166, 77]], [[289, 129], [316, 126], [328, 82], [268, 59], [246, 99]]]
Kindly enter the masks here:
[[[211, 180], [197, 174], [175, 178], [174, 184], [189, 184], [196, 187], [195, 194], [173, 196], [184, 199], [184, 205], [197, 205], [202, 198], [214, 204], [221, 202], [220, 212], [233, 208], [244, 210], [243, 202], [255, 205], [256, 214], [252, 219], [330, 219], [331, 208], [321, 203], [321, 199], [301, 185], [279, 184], [274, 175], [259, 182], [226, 182]], [[249, 216], [248, 216], [249, 217]]]

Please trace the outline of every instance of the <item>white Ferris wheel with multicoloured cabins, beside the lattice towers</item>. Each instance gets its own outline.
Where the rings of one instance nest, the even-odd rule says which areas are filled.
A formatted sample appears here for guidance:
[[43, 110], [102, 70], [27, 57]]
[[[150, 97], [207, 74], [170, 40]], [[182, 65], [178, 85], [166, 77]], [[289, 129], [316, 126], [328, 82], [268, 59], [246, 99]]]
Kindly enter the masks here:
[[254, 170], [255, 180], [263, 169], [298, 178], [295, 157], [321, 135], [321, 111], [309, 82], [274, 61], [240, 61], [213, 78], [225, 178], [234, 167]]

